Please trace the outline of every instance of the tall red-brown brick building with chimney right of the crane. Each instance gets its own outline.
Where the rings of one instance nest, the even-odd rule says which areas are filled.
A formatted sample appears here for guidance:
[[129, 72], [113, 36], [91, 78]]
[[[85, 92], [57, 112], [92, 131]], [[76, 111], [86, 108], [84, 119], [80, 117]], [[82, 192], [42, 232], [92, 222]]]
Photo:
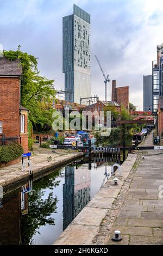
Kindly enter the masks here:
[[116, 80], [112, 80], [112, 95], [111, 100], [116, 101], [121, 106], [128, 109], [129, 107], [129, 86], [117, 87]]

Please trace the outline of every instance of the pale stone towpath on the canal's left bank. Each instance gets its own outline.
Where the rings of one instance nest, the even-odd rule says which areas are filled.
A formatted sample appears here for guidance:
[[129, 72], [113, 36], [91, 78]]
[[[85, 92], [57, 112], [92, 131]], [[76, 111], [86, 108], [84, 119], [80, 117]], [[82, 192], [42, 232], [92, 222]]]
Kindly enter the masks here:
[[[52, 152], [53, 151], [53, 152]], [[74, 161], [81, 157], [83, 153], [79, 153], [76, 150], [52, 150], [36, 147], [30, 157], [32, 163], [33, 178], [48, 174], [48, 170], [54, 168], [60, 168], [62, 165]], [[28, 161], [28, 157], [24, 159]], [[26, 170], [22, 172], [22, 161], [0, 168], [0, 186], [11, 187], [17, 186], [17, 184], [27, 181], [29, 177], [28, 164], [26, 164]]]

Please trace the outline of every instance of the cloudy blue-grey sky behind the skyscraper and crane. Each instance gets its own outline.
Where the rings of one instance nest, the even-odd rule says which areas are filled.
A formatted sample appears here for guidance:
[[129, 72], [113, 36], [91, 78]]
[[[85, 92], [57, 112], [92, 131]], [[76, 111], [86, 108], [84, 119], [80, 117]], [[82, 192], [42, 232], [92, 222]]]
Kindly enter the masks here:
[[0, 0], [0, 44], [5, 50], [21, 45], [39, 58], [41, 75], [64, 89], [62, 17], [72, 14], [73, 3], [91, 14], [91, 94], [104, 100], [96, 54], [110, 80], [130, 87], [129, 101], [141, 110], [143, 75], [152, 74], [156, 45], [163, 42], [162, 0]]

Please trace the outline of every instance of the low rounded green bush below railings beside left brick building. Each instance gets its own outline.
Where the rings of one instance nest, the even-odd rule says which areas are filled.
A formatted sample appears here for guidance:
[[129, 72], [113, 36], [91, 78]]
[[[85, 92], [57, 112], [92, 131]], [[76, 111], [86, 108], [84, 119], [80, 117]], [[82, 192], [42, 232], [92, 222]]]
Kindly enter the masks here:
[[8, 163], [20, 157], [23, 153], [22, 145], [14, 143], [0, 147], [0, 163]]

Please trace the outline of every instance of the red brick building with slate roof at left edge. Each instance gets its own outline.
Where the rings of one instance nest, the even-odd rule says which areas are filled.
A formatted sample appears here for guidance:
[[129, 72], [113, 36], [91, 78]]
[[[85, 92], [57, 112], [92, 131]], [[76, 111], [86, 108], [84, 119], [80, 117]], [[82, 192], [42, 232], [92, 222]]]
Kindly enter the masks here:
[[20, 105], [22, 67], [19, 60], [0, 57], [0, 138], [18, 137], [28, 152], [28, 109]]

